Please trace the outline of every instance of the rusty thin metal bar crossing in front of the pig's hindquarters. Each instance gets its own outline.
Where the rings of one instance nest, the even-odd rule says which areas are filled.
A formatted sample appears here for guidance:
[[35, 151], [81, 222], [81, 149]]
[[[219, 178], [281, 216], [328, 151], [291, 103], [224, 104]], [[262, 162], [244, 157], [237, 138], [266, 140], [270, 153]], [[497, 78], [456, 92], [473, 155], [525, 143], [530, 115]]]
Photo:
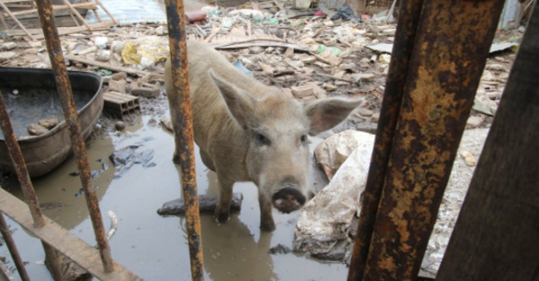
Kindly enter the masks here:
[[167, 92], [175, 141], [172, 161], [181, 166], [181, 189], [186, 206], [191, 278], [204, 280], [183, 1], [165, 0], [165, 5], [174, 84], [174, 92]]

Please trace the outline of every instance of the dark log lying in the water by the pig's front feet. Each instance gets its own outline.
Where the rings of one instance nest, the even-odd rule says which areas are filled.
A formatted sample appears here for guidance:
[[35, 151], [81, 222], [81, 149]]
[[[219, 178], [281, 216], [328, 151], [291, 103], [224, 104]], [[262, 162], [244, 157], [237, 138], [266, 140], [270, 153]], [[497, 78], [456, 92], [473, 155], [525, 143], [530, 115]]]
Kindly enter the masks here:
[[[232, 204], [230, 211], [240, 211], [242, 209], [243, 194], [234, 193], [232, 196]], [[200, 214], [213, 214], [217, 206], [216, 195], [199, 195], [199, 212]], [[175, 199], [163, 204], [157, 210], [159, 215], [185, 215], [185, 203], [182, 198]]]

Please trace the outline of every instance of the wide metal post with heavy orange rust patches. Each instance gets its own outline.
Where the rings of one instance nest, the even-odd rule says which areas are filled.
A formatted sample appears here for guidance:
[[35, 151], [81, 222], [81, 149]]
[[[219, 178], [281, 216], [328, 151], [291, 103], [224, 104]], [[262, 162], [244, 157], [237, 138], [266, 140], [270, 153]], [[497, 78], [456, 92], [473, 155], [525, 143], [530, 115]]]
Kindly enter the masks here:
[[415, 280], [503, 0], [425, 1], [363, 280]]

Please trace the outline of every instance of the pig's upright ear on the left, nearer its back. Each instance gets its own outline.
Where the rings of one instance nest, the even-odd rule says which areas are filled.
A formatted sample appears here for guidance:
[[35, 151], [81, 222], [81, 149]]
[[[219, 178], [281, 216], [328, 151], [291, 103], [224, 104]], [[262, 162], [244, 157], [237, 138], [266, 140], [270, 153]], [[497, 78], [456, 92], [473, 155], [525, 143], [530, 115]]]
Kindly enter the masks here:
[[221, 77], [215, 75], [212, 70], [209, 70], [208, 73], [225, 99], [226, 106], [234, 119], [236, 119], [241, 127], [244, 129], [247, 128], [256, 101], [247, 92], [238, 89], [233, 84], [227, 83]]

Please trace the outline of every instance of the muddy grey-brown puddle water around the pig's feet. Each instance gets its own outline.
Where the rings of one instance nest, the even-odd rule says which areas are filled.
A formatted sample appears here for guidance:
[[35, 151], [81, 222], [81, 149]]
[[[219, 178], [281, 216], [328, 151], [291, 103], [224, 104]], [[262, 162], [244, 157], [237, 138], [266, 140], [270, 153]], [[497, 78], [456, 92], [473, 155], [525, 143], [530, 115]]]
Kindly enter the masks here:
[[[181, 197], [179, 168], [172, 164], [173, 137], [162, 127], [148, 125], [150, 117], [138, 118], [125, 133], [105, 132], [88, 142], [91, 168], [109, 169], [95, 180], [104, 217], [105, 229], [112, 210], [119, 218], [117, 233], [110, 241], [112, 257], [146, 280], [190, 280], [189, 251], [184, 218], [163, 217], [156, 210], [164, 202]], [[149, 140], [148, 140], [149, 139]], [[154, 149], [154, 167], [134, 165], [121, 178], [108, 159], [111, 152], [127, 145]], [[216, 174], [199, 161], [197, 180], [199, 194], [216, 194]], [[102, 161], [102, 162], [100, 162]], [[84, 241], [95, 244], [93, 229], [85, 208], [84, 196], [77, 196], [81, 183], [69, 173], [76, 171], [70, 159], [46, 177], [33, 180], [43, 213]], [[18, 198], [22, 192], [11, 179], [2, 186]], [[279, 243], [292, 248], [297, 212], [273, 215], [277, 230], [261, 233], [257, 190], [252, 183], [239, 183], [234, 192], [243, 193], [240, 213], [226, 224], [217, 224], [211, 215], [202, 215], [202, 241], [206, 280], [344, 280], [348, 268], [340, 263], [322, 263], [294, 253], [270, 255], [270, 247]], [[9, 221], [13, 237], [28, 261], [26, 268], [32, 280], [51, 280], [42, 265], [44, 254], [40, 241]], [[9, 257], [5, 246], [0, 256]], [[13, 262], [7, 264], [13, 267]], [[17, 276], [18, 277], [18, 276]]]

